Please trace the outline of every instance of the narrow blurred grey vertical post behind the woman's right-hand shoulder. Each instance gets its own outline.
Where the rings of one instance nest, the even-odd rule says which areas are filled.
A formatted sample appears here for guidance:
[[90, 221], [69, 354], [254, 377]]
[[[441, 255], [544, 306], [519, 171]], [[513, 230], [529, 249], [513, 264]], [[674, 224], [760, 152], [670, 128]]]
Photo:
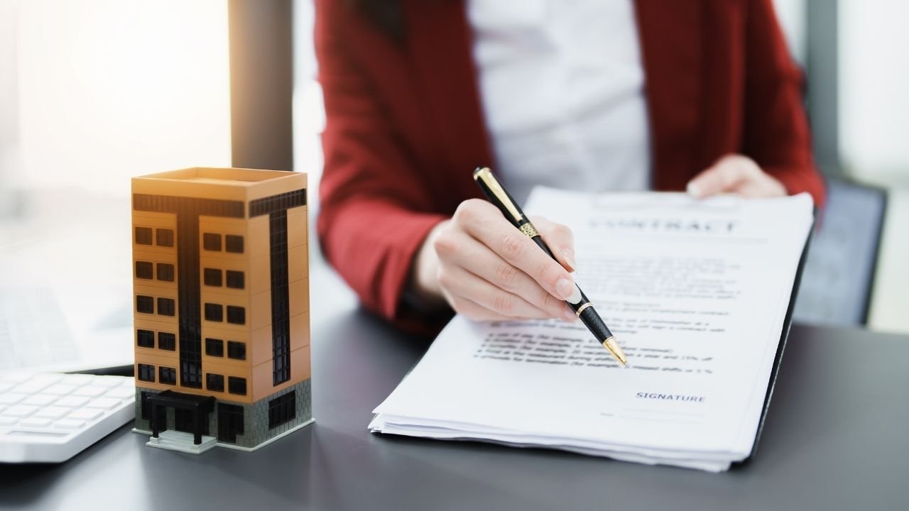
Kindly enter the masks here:
[[828, 176], [842, 176], [839, 135], [839, 0], [807, 0], [807, 107], [814, 159]]

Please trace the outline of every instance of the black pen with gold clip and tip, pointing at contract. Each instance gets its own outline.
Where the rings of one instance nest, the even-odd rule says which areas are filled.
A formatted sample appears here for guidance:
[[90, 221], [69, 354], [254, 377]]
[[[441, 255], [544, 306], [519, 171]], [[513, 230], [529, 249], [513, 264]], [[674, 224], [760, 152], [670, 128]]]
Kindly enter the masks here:
[[[495, 179], [491, 170], [486, 167], [477, 168], [474, 170], [474, 181], [476, 181], [476, 184], [483, 190], [483, 193], [486, 195], [486, 198], [489, 199], [489, 202], [498, 207], [499, 210], [502, 211], [502, 215], [504, 215], [512, 225], [520, 229], [524, 235], [527, 235], [527, 237], [534, 240], [537, 246], [542, 248], [547, 255], [555, 259], [555, 255], [553, 255], [552, 250], [546, 246], [543, 237], [540, 236], [540, 233], [536, 232], [536, 228], [530, 223], [530, 219], [524, 215], [524, 212], [521, 211], [521, 208], [514, 202], [512, 196], [509, 195], [504, 187], [499, 184], [498, 180]], [[609, 327], [606, 326], [603, 318], [594, 310], [594, 304], [590, 303], [590, 300], [584, 295], [584, 291], [581, 291], [580, 286], [577, 286], [577, 290], [580, 292], [581, 299], [574, 304], [567, 300], [565, 303], [574, 310], [574, 314], [581, 318], [581, 321], [584, 322], [584, 326], [587, 326], [587, 329], [596, 337], [596, 340], [603, 344], [603, 347], [608, 349], [609, 353], [613, 354], [616, 360], [621, 362], [622, 365], [627, 364], [628, 359], [624, 356], [622, 348], [615, 342], [615, 337], [612, 332], [609, 331]]]

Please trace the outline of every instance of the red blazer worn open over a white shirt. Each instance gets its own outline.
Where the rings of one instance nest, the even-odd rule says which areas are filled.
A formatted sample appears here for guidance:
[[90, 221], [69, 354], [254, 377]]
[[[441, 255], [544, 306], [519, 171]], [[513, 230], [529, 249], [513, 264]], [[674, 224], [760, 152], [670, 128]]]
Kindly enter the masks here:
[[[395, 42], [344, 0], [316, 0], [325, 95], [318, 234], [363, 304], [425, 329], [401, 300], [425, 235], [478, 197], [495, 168], [461, 0], [401, 0]], [[635, 3], [658, 190], [682, 190], [721, 155], [741, 153], [790, 193], [824, 200], [802, 105], [771, 0]]]

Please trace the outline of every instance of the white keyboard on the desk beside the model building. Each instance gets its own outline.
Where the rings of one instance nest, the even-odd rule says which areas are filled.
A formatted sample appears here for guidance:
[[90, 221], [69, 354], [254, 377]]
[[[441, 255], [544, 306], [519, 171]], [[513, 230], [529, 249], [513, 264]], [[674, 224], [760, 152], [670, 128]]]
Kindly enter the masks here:
[[0, 372], [0, 462], [66, 461], [134, 417], [133, 378]]

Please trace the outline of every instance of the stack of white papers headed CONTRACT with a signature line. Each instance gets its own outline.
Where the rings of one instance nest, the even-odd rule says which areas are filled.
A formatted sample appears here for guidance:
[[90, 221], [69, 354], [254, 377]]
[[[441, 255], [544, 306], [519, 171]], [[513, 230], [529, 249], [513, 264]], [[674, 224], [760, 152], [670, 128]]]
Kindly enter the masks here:
[[811, 197], [537, 188], [524, 210], [573, 229], [578, 286], [628, 366], [580, 322], [455, 316], [370, 430], [714, 472], [750, 456]]

